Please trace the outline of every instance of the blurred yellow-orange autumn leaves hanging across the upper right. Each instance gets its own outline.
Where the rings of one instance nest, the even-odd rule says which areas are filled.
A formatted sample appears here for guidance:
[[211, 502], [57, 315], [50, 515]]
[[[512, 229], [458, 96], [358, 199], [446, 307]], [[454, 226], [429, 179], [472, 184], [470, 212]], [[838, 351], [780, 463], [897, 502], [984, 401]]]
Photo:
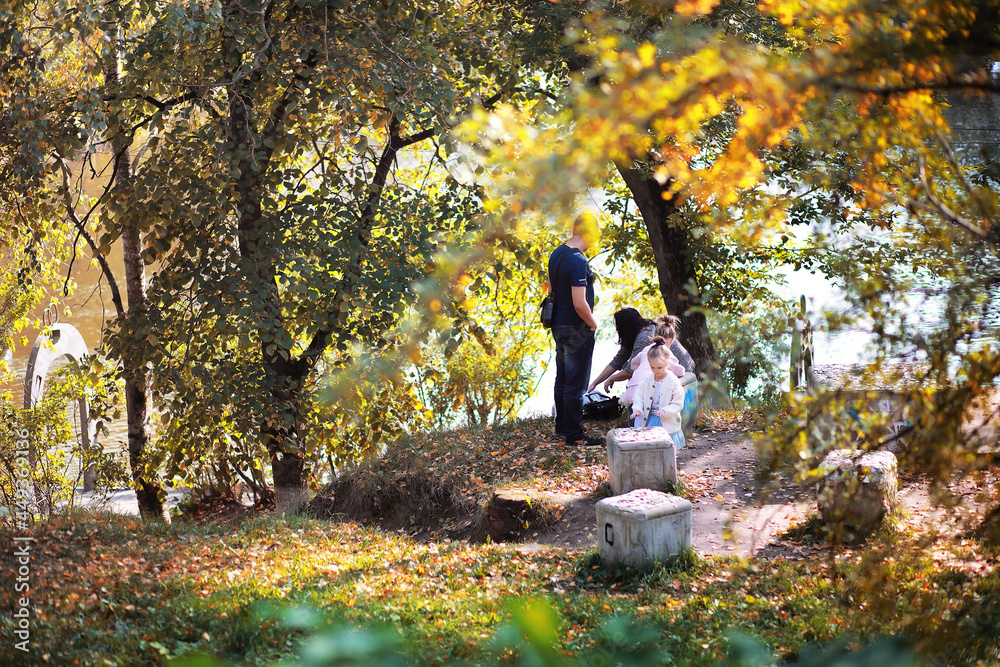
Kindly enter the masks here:
[[492, 170], [496, 199], [487, 210], [565, 219], [612, 165], [637, 163], [669, 186], [665, 198], [682, 193], [725, 209], [764, 188], [775, 153], [793, 144], [846, 154], [865, 206], [898, 198], [914, 180], [913, 164], [899, 156], [927, 153], [947, 129], [923, 86], [951, 66], [935, 57], [886, 66], [878, 49], [890, 47], [876, 38], [940, 37], [927, 25], [935, 19], [961, 33], [968, 12], [946, 3], [894, 22], [888, 10], [849, 0], [764, 0], [756, 18], [780, 38], [755, 43], [705, 29], [699, 17], [715, 5], [678, 3], [667, 19], [674, 27], [647, 41], [586, 16], [569, 39], [587, 66], [571, 74], [558, 101], [473, 114], [459, 135], [482, 149]]

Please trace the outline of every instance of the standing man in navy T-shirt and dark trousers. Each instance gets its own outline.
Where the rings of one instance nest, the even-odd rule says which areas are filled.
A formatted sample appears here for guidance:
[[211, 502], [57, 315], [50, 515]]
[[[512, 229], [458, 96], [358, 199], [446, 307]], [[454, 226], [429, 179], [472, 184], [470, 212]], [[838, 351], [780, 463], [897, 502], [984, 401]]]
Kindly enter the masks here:
[[601, 445], [583, 430], [583, 394], [594, 356], [594, 274], [583, 252], [597, 237], [590, 215], [573, 221], [573, 236], [549, 255], [549, 287], [555, 307], [552, 337], [556, 341], [556, 433], [567, 445]]

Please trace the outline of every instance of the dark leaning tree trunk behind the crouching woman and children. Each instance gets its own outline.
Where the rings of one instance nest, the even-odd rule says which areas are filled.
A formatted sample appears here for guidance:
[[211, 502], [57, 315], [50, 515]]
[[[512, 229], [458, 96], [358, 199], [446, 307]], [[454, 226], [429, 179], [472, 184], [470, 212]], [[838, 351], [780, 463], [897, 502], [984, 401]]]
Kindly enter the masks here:
[[[660, 184], [651, 175], [625, 165], [618, 164], [625, 184], [639, 207], [639, 214], [646, 224], [649, 243], [656, 259], [656, 275], [660, 295], [667, 312], [681, 319], [679, 339], [691, 353], [695, 362], [695, 373], [699, 378], [718, 380], [715, 365], [715, 348], [708, 335], [705, 316], [692, 310], [701, 305], [697, 291], [697, 275], [687, 258], [688, 230], [670, 224], [668, 218], [677, 210], [674, 199], [664, 199], [670, 183]], [[689, 287], [696, 290], [691, 294]]]

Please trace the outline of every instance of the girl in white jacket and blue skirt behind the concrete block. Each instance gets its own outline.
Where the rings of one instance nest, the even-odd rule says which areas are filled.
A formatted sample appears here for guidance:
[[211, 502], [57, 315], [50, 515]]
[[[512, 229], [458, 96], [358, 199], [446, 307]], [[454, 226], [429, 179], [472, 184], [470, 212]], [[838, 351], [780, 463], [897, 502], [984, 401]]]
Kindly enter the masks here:
[[670, 348], [666, 340], [657, 336], [647, 352], [652, 371], [639, 382], [632, 403], [635, 428], [663, 426], [680, 449], [684, 446], [681, 430], [681, 408], [684, 407], [684, 389], [677, 376], [667, 370]]

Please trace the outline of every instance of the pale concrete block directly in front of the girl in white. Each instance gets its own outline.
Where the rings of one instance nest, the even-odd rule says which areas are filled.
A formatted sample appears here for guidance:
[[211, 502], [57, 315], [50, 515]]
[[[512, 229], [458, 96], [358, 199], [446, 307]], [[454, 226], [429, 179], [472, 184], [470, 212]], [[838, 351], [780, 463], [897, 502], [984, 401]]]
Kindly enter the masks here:
[[608, 472], [615, 495], [634, 489], [673, 491], [677, 452], [667, 429], [615, 428], [608, 431]]

